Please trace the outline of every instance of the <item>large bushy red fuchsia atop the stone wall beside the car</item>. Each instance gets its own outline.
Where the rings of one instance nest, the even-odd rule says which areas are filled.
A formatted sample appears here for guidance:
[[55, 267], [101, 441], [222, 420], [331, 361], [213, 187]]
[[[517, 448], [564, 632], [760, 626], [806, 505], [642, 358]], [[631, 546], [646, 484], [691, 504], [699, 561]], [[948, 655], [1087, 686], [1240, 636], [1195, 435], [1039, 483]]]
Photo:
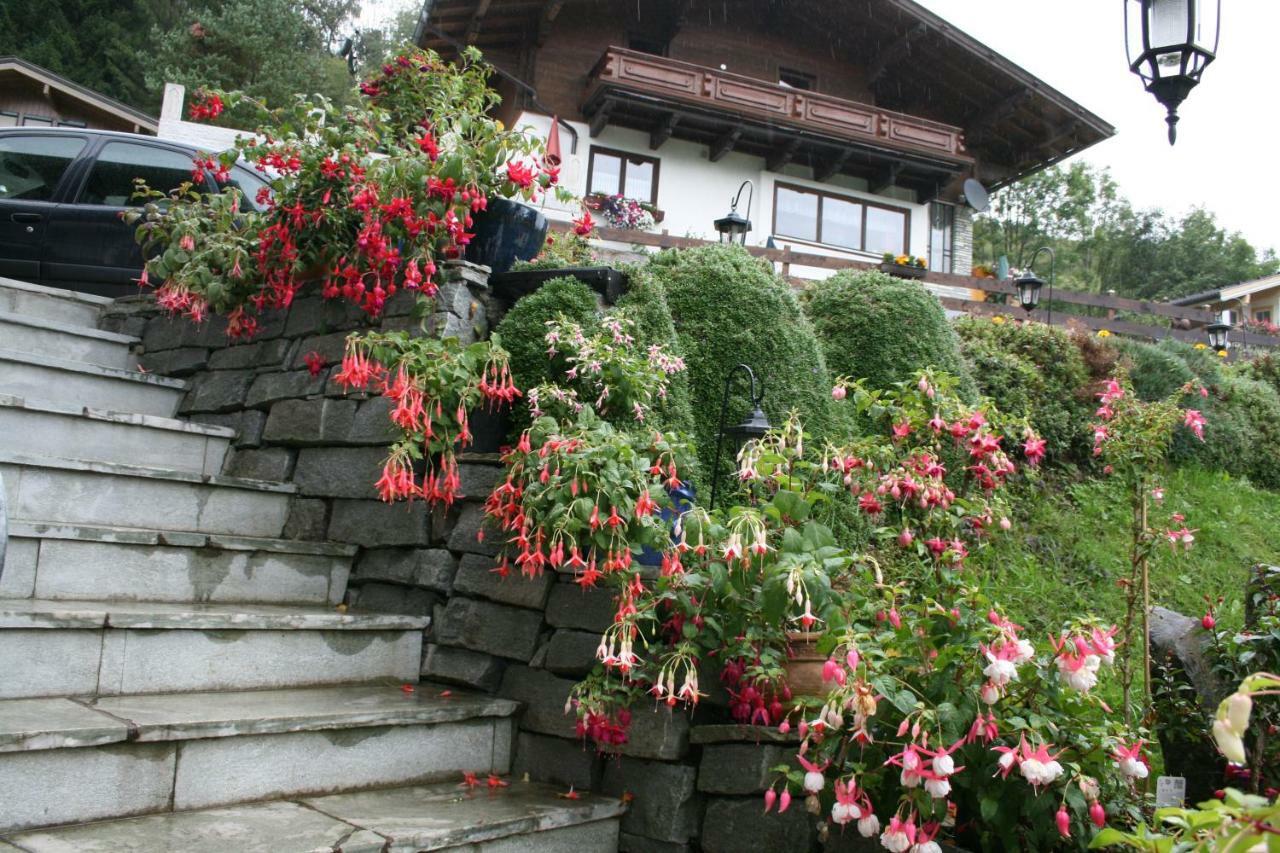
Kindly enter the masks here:
[[[168, 247], [147, 261], [143, 283], [170, 310], [227, 314], [232, 336], [251, 336], [256, 316], [288, 306], [308, 278], [323, 279], [325, 298], [372, 315], [398, 288], [434, 295], [436, 261], [462, 254], [490, 197], [532, 200], [558, 181], [538, 138], [492, 118], [489, 73], [475, 49], [457, 64], [406, 50], [361, 83], [352, 106], [256, 105], [255, 136], [198, 156], [193, 179], [207, 170], [225, 181], [243, 158], [270, 178], [257, 199], [265, 211], [184, 186], [168, 205], [128, 214], [141, 242]], [[247, 99], [215, 92], [198, 102], [212, 115], [214, 104]]]

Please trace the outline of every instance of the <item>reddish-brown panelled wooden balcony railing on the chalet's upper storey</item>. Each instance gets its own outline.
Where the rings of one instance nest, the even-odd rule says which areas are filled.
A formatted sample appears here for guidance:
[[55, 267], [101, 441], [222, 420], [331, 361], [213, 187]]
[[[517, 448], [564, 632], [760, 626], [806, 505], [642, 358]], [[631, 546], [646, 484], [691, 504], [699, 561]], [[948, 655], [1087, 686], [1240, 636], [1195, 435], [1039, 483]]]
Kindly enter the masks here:
[[964, 131], [951, 124], [622, 47], [609, 47], [596, 63], [586, 102], [598, 101], [604, 90], [634, 91], [881, 149], [970, 159]]

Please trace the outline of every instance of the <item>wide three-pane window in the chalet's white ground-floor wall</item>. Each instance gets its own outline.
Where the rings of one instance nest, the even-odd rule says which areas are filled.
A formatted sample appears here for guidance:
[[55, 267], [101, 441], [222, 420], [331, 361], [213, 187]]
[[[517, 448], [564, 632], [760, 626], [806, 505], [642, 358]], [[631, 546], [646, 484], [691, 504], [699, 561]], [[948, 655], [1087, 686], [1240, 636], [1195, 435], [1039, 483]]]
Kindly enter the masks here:
[[773, 233], [860, 252], [908, 251], [910, 214], [856, 199], [774, 184]]

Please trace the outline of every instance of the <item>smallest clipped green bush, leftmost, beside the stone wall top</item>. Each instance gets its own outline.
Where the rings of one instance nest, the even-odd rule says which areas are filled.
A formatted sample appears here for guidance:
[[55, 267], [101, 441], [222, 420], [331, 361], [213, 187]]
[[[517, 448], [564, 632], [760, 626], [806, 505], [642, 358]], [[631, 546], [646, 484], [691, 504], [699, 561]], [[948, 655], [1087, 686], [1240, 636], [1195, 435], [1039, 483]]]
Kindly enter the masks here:
[[553, 278], [529, 296], [517, 301], [495, 332], [503, 348], [511, 353], [511, 374], [516, 387], [527, 391], [544, 382], [554, 382], [556, 370], [547, 357], [547, 323], [559, 315], [589, 324], [598, 313], [595, 293], [576, 278]]

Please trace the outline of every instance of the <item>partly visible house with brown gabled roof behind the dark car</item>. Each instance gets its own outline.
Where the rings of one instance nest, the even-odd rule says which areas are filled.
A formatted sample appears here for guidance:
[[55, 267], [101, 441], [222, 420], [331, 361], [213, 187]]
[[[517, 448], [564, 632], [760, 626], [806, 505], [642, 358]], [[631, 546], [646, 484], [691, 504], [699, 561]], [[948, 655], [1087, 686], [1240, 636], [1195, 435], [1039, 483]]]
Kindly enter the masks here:
[[17, 56], [0, 56], [0, 127], [155, 133], [156, 120]]

